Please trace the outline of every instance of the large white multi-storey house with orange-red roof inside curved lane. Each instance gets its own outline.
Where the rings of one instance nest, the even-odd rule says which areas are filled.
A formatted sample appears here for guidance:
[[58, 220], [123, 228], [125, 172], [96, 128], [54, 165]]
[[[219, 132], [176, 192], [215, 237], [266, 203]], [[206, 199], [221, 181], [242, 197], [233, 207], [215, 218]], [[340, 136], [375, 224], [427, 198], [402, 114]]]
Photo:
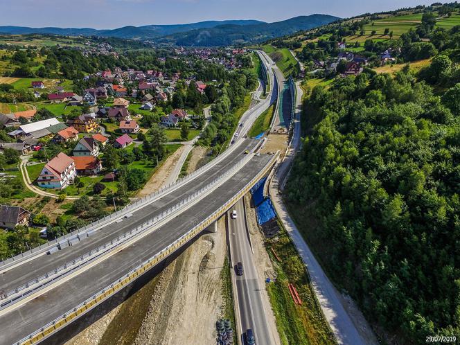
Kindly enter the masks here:
[[66, 188], [73, 183], [76, 177], [76, 168], [73, 159], [62, 152], [48, 161], [37, 179], [42, 188]]

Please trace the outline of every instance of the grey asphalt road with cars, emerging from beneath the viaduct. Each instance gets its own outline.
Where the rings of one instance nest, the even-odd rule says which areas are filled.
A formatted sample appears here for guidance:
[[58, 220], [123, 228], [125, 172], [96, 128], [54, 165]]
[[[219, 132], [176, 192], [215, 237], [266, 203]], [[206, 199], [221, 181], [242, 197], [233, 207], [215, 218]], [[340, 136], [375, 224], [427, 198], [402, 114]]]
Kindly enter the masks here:
[[[236, 210], [238, 216], [231, 219], [231, 211]], [[256, 344], [275, 344], [272, 332], [269, 330], [267, 317], [263, 305], [263, 297], [256, 266], [253, 261], [251, 246], [249, 245], [249, 232], [245, 222], [245, 208], [242, 200], [238, 201], [227, 213], [229, 217], [229, 242], [231, 246], [231, 261], [233, 274], [236, 274], [236, 263], [242, 263], [244, 273], [236, 275], [236, 294], [238, 295], [238, 308], [240, 311], [240, 331], [245, 333], [248, 328], [254, 331]], [[242, 344], [244, 344], [242, 342]]]

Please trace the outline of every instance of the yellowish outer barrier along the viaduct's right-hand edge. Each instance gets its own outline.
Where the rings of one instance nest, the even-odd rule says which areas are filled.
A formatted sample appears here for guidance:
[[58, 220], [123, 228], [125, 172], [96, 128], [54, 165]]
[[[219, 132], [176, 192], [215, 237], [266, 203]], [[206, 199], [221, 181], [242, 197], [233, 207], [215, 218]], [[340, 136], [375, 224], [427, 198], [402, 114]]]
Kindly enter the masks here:
[[73, 321], [74, 319], [78, 319], [78, 317], [81, 317], [83, 314], [85, 314], [89, 310], [96, 307], [99, 303], [111, 297], [112, 294], [118, 292], [118, 290], [121, 290], [126, 285], [134, 281], [137, 277], [147, 272], [148, 269], [152, 268], [154, 265], [159, 263], [161, 260], [163, 260], [163, 258], [166, 258], [166, 256], [171, 254], [173, 251], [175, 251], [179, 247], [182, 247], [182, 245], [188, 242], [188, 240], [191, 240], [191, 238], [195, 237], [197, 233], [199, 233], [203, 229], [206, 229], [206, 227], [208, 227], [215, 220], [217, 220], [233, 204], [235, 204], [236, 201], [238, 201], [243, 195], [245, 195], [245, 193], [247, 193], [249, 189], [252, 186], [254, 186], [254, 184], [256, 184], [256, 182], [261, 177], [263, 177], [263, 175], [265, 175], [267, 171], [269, 171], [269, 169], [272, 167], [274, 162], [276, 162], [276, 159], [278, 159], [279, 153], [280, 153], [279, 151], [276, 152], [276, 154], [274, 154], [274, 157], [270, 159], [270, 161], [265, 165], [265, 167], [262, 170], [260, 170], [260, 172], [258, 172], [256, 177], [251, 179], [251, 181], [248, 184], [246, 184], [245, 187], [243, 187], [238, 193], [236, 193], [236, 195], [231, 197], [231, 199], [227, 201], [224, 205], [220, 206], [220, 208], [217, 211], [214, 211], [211, 215], [209, 215], [208, 218], [206, 218], [205, 220], [197, 224], [190, 231], [188, 231], [187, 233], [182, 235], [180, 238], [175, 240], [175, 242], [172, 242], [170, 245], [168, 245], [168, 247], [159, 251], [159, 253], [152, 256], [152, 258], [144, 261], [143, 263], [141, 263], [141, 265], [132, 269], [130, 272], [125, 274], [123, 277], [118, 278], [116, 281], [114, 281], [112, 284], [107, 286], [105, 289], [100, 290], [99, 292], [94, 294], [91, 298], [83, 301], [82, 303], [80, 303], [78, 306], [76, 306], [72, 310], [69, 310], [64, 315], [57, 317], [56, 319], [49, 322], [48, 324], [46, 324], [39, 330], [36, 330], [35, 332], [31, 333], [27, 337], [24, 337], [18, 342], [15, 342], [15, 345], [35, 344], [37, 342], [42, 341], [46, 337], [49, 337], [56, 330], [59, 330], [60, 328], [62, 328], [69, 322]]

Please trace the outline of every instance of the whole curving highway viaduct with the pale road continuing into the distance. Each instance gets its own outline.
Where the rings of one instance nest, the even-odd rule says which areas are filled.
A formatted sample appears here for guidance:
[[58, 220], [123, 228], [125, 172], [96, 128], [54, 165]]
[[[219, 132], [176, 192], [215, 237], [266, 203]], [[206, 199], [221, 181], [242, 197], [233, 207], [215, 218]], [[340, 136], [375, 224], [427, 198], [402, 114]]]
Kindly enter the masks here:
[[276, 99], [264, 59], [270, 94], [243, 115], [240, 136], [222, 157], [79, 236], [0, 267], [0, 344], [35, 344], [64, 328], [184, 246], [267, 175], [278, 153], [258, 154], [262, 141], [242, 138]]

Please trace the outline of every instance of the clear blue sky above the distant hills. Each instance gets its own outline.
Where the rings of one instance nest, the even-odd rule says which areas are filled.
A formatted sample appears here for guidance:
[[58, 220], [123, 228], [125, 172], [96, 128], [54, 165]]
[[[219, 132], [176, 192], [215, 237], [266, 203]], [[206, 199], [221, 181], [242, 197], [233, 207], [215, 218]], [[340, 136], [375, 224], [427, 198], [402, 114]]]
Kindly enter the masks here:
[[365, 12], [429, 5], [435, 0], [0, 0], [0, 26], [119, 28], [203, 20], [279, 21], [324, 13]]

